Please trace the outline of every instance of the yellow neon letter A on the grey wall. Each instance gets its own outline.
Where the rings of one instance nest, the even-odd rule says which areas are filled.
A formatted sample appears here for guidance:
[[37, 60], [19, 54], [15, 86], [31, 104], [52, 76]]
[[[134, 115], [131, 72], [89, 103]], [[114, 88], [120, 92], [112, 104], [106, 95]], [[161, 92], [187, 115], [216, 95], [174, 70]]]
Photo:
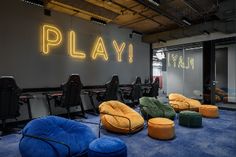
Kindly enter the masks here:
[[104, 45], [102, 37], [99, 37], [96, 41], [95, 47], [92, 52], [92, 58], [96, 59], [97, 56], [103, 57], [106, 61], [108, 60], [108, 55], [106, 51], [106, 47]]

